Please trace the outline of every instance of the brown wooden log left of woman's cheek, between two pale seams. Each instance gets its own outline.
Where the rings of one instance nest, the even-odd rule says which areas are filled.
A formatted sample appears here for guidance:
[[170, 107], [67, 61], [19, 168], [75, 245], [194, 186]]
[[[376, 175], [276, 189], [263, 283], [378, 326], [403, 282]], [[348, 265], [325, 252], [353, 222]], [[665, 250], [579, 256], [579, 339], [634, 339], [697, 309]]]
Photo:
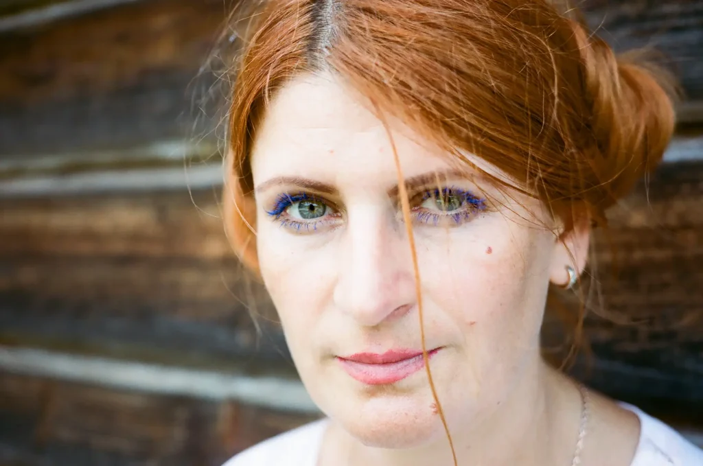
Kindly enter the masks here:
[[[200, 212], [187, 192], [8, 202], [0, 333], [63, 335], [74, 351], [109, 341], [120, 356], [280, 359], [269, 299], [233, 258], [214, 194], [194, 199]], [[53, 231], [57, 242], [31, 231]]]

